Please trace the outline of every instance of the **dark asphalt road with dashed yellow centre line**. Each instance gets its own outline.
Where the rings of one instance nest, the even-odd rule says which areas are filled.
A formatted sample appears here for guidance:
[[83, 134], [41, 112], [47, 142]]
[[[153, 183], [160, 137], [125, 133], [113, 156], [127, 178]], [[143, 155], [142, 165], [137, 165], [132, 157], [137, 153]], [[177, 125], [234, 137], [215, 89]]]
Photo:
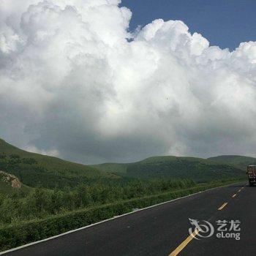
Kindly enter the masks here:
[[[213, 235], [206, 237], [210, 232], [204, 233], [206, 227], [200, 226], [202, 230], [192, 238], [189, 227], [192, 231], [195, 227], [189, 218], [210, 222]], [[221, 227], [227, 228], [222, 238], [217, 238], [219, 220], [227, 221]], [[234, 224], [237, 220], [241, 223]], [[256, 255], [255, 228], [256, 187], [242, 183], [136, 211], [6, 255]]]

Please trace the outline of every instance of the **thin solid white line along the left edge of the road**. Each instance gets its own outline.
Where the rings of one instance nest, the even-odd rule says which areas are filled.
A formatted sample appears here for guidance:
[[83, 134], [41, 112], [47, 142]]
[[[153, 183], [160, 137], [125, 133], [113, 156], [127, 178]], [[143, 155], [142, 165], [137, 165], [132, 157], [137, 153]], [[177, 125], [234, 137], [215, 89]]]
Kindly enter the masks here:
[[[238, 184], [238, 183], [240, 183], [240, 182], [236, 182], [236, 183], [233, 183], [233, 184]], [[233, 185], [233, 184], [228, 184], [228, 185], [224, 185], [224, 186], [221, 186], [221, 187], [228, 187], [228, 186]], [[80, 228], [77, 228], [77, 229], [75, 229], [75, 230], [70, 230], [70, 231], [67, 231], [67, 232], [65, 232], [65, 233], [61, 233], [61, 234], [59, 234], [59, 235], [57, 235], [57, 236], [50, 236], [49, 238], [45, 238], [45, 239], [42, 239], [42, 240], [39, 240], [39, 241], [35, 241], [35, 242], [29, 243], [29, 244], [24, 244], [24, 245], [22, 245], [22, 246], [15, 247], [15, 248], [13, 248], [13, 249], [9, 249], [9, 250], [4, 251], [4, 252], [0, 252], [0, 255], [4, 255], [4, 254], [6, 254], [6, 253], [8, 253], [8, 252], [14, 252], [14, 251], [17, 251], [18, 249], [23, 249], [23, 248], [25, 248], [25, 247], [28, 247], [28, 246], [31, 246], [31, 245], [34, 245], [34, 244], [39, 244], [39, 243], [42, 243], [42, 242], [45, 242], [45, 241], [48, 241], [48, 240], [52, 240], [52, 239], [58, 238], [58, 237], [60, 237], [60, 236], [65, 236], [65, 235], [67, 235], [67, 234], [69, 234], [69, 233], [74, 233], [74, 232], [77, 232], [77, 231], [79, 231], [79, 230], [84, 230], [84, 229], [86, 229], [86, 228], [88, 228], [88, 227], [92, 227], [92, 226], [95, 226], [95, 225], [99, 225], [99, 224], [101, 224], [101, 223], [108, 222], [108, 221], [110, 221], [110, 220], [112, 220], [112, 219], [117, 219], [117, 218], [120, 218], [120, 217], [124, 217], [124, 216], [129, 215], [129, 214], [134, 214], [135, 212], [138, 212], [138, 211], [143, 211], [143, 210], [146, 210], [146, 209], [148, 209], [148, 208], [153, 208], [153, 207], [155, 207], [155, 206], [161, 206], [161, 205], [163, 205], [163, 204], [165, 204], [165, 203], [170, 203], [170, 202], [173, 202], [173, 201], [176, 201], [176, 200], [180, 200], [180, 199], [183, 199], [183, 198], [186, 198], [186, 197], [191, 197], [192, 195], [197, 195], [197, 194], [200, 194], [200, 193], [203, 193], [203, 192], [207, 192], [207, 191], [210, 191], [210, 190], [213, 190], [213, 189], [219, 189], [219, 188], [221, 188], [221, 187], [213, 187], [213, 188], [211, 188], [211, 189], [206, 189], [206, 190], [203, 190], [203, 191], [200, 191], [200, 192], [196, 192], [196, 193], [191, 194], [191, 195], [185, 195], [184, 197], [178, 197], [178, 198], [175, 198], [175, 199], [172, 199], [172, 200], [165, 201], [165, 202], [163, 202], [163, 203], [157, 203], [157, 204], [154, 205], [154, 206], [148, 206], [148, 207], [145, 207], [145, 208], [140, 208], [140, 209], [138, 209], [138, 210], [136, 210], [136, 211], [130, 211], [130, 212], [128, 212], [127, 214], [121, 214], [121, 215], [115, 216], [115, 217], [113, 217], [113, 218], [105, 219], [105, 220], [102, 220], [102, 221], [100, 221], [100, 222], [93, 223], [93, 224], [88, 225], [88, 226], [85, 226], [85, 227], [80, 227]]]

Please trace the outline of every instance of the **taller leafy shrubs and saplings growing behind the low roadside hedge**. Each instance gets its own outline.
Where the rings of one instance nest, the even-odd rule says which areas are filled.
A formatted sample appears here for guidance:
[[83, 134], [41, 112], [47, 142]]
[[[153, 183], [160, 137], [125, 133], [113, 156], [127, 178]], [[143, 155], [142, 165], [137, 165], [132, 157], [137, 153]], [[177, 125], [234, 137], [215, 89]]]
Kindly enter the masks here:
[[37, 187], [27, 194], [18, 190], [10, 195], [0, 196], [0, 226], [146, 195], [187, 189], [195, 185], [192, 180], [127, 180], [90, 186], [79, 184], [75, 188], [64, 190]]

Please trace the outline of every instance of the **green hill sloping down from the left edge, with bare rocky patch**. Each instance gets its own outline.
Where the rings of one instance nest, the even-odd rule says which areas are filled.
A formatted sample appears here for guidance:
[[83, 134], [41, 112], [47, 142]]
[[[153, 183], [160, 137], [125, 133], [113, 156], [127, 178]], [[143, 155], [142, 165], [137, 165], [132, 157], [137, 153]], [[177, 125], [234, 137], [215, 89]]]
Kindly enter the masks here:
[[0, 170], [14, 174], [30, 187], [73, 187], [80, 182], [90, 184], [99, 178], [116, 178], [94, 167], [23, 151], [1, 139]]

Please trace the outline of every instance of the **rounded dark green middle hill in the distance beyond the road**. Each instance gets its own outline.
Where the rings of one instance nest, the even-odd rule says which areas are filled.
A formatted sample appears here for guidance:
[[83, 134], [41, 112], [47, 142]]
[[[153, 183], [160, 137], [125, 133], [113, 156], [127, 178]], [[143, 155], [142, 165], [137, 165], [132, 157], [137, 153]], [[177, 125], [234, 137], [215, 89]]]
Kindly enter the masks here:
[[222, 178], [246, 178], [238, 167], [195, 157], [149, 157], [140, 162], [105, 163], [94, 167], [135, 178], [192, 178], [200, 182]]

